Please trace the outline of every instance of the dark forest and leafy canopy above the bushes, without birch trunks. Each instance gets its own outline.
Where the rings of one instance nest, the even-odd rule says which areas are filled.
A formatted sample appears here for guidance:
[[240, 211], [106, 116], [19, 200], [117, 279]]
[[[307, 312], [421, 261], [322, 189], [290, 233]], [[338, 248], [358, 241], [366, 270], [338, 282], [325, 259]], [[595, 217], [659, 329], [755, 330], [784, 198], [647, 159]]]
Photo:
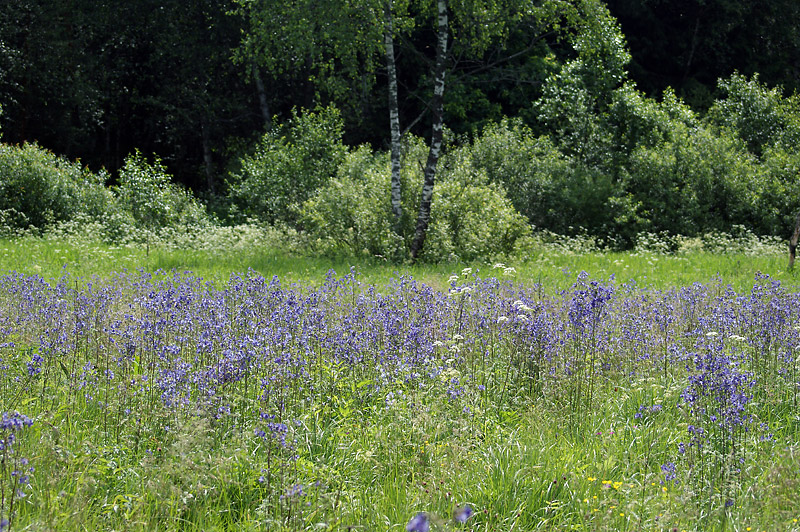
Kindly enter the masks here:
[[[786, 91], [797, 87], [796, 2], [595, 3], [619, 20], [632, 57], [626, 68], [648, 95], [673, 87], [690, 105], [705, 109], [719, 94], [717, 79], [734, 71], [758, 72], [763, 82]], [[423, 134], [432, 120], [433, 4], [391, 4], [403, 129]], [[538, 128], [534, 104], [545, 80], [574, 59], [565, 36], [591, 31], [570, 13], [589, 4], [450, 2], [448, 128], [469, 133], [504, 116], [520, 116]], [[198, 191], [218, 182], [242, 145], [236, 139], [263, 131], [265, 110], [267, 119], [288, 118], [295, 107], [336, 103], [348, 144], [385, 148], [387, 5], [386, 0], [4, 2], [4, 138], [36, 141], [112, 174], [135, 149], [154, 152]], [[558, 23], [549, 24], [557, 17]], [[584, 46], [581, 53], [590, 52]]]

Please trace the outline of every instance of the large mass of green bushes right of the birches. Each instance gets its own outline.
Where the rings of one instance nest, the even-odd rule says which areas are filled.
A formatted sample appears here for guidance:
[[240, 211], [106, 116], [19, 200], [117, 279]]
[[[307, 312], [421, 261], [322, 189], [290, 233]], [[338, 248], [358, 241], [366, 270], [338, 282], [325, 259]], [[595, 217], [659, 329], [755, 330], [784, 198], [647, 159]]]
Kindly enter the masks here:
[[[720, 82], [727, 97], [703, 119], [672, 91], [661, 102], [632, 83], [595, 94], [580, 75], [581, 61], [579, 56], [548, 80], [538, 107], [557, 151], [567, 155], [562, 168], [605, 177], [586, 181], [588, 196], [604, 211], [587, 216], [580, 188], [562, 185], [564, 197], [577, 201], [558, 204], [557, 212], [623, 247], [634, 245], [642, 232], [695, 236], [739, 224], [757, 234], [786, 233], [798, 208], [791, 193], [797, 167], [789, 148], [800, 138], [794, 98], [782, 98], [757, 77], [734, 75]], [[495, 173], [512, 181], [526, 175], [489, 171]], [[509, 186], [512, 198], [518, 190]], [[553, 220], [535, 218], [540, 206], [519, 200], [515, 205], [537, 225], [564, 232]]]

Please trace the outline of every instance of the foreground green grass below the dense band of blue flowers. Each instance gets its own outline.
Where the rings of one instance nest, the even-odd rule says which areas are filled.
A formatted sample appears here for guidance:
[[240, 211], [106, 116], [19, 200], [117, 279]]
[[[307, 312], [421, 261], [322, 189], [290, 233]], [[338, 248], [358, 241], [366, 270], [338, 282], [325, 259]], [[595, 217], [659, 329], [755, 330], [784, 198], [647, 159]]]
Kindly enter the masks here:
[[19, 529], [400, 532], [417, 511], [446, 521], [469, 503], [478, 511], [469, 526], [448, 530], [800, 530], [796, 441], [755, 457], [765, 467], [725, 520], [717, 510], [699, 521], [684, 488], [658, 472], [685, 423], [669, 413], [656, 425], [630, 422], [643, 396], [677, 390], [652, 386], [598, 394], [598, 415], [579, 437], [546, 406], [507, 411], [491, 394], [468, 400], [469, 416], [464, 402], [425, 391], [390, 408], [313, 409], [300, 418], [297, 460], [273, 480], [278, 494], [305, 486], [305, 498], [288, 503], [256, 482], [266, 453], [251, 431], [221, 435], [187, 418], [135, 449], [130, 437], [109, 441], [98, 412], [67, 417], [34, 401], [25, 408], [37, 414], [27, 435], [37, 472]]

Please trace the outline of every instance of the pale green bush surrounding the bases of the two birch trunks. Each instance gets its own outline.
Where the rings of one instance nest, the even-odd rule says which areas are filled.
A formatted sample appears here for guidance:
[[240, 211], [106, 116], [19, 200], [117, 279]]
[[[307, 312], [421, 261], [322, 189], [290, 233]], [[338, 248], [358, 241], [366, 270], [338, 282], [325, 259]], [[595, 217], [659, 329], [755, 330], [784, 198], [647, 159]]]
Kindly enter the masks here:
[[[426, 148], [409, 139], [402, 164], [401, 235], [392, 230], [388, 154], [362, 147], [347, 155], [332, 179], [303, 206], [302, 221], [312, 245], [329, 255], [407, 256], [419, 210], [421, 167]], [[468, 150], [456, 150], [440, 161], [433, 193], [431, 221], [423, 261], [475, 260], [503, 255], [528, 233], [499, 184], [472, 163]]]

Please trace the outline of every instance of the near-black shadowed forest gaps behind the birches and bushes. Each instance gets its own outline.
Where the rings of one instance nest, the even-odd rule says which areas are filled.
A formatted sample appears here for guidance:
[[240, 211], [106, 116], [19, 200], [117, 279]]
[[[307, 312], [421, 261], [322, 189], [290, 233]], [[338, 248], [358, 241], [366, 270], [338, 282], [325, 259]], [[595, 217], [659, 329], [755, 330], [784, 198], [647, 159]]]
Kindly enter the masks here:
[[[631, 54], [630, 79], [648, 96], [672, 87], [704, 111], [717, 80], [738, 71], [793, 93], [800, 80], [800, 7], [792, 0], [609, 0]], [[252, 70], [231, 58], [246, 21], [226, 0], [129, 2], [9, 0], [0, 7], [3, 138], [38, 142], [90, 168], [116, 172], [135, 149], [156, 153], [193, 190], [208, 190], [241, 139], [265, 127]], [[524, 47], [525, 35], [509, 39]], [[430, 39], [418, 31], [408, 39]], [[551, 50], [561, 59], [558, 43]], [[424, 49], [423, 45], [415, 49]], [[538, 52], [538, 53], [536, 53]], [[560, 53], [561, 52], [561, 53]], [[541, 51], [530, 55], [541, 56]], [[401, 57], [406, 80], [428, 65]], [[446, 124], [468, 133], [504, 115], [525, 114], [541, 96], [543, 71], [518, 62], [458, 80], [448, 91]], [[267, 80], [271, 114], [290, 116], [320, 97], [301, 62]], [[266, 73], [262, 74], [267, 76]], [[402, 87], [401, 80], [401, 87]], [[352, 94], [348, 144], [385, 148], [385, 76]], [[406, 81], [414, 88], [416, 82]], [[402, 90], [402, 88], [401, 88]], [[416, 117], [424, 102], [406, 98]], [[425, 134], [426, 123], [413, 128]], [[204, 157], [205, 154], [205, 157]], [[208, 155], [210, 154], [210, 159]], [[211, 179], [209, 179], [209, 172]]]

